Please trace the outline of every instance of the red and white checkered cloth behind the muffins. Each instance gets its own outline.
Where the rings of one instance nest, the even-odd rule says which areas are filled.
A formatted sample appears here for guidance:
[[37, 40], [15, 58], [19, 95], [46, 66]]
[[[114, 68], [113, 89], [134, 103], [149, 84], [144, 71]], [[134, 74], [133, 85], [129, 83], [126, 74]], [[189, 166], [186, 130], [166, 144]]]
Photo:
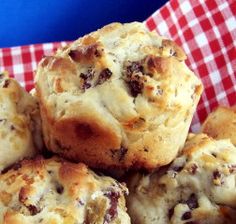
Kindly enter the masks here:
[[[176, 41], [188, 56], [187, 64], [201, 78], [205, 91], [195, 113], [192, 130], [200, 127], [217, 105], [236, 105], [236, 1], [170, 0], [150, 16], [150, 30]], [[33, 71], [43, 55], [66, 42], [0, 49], [0, 71], [30, 90]]]

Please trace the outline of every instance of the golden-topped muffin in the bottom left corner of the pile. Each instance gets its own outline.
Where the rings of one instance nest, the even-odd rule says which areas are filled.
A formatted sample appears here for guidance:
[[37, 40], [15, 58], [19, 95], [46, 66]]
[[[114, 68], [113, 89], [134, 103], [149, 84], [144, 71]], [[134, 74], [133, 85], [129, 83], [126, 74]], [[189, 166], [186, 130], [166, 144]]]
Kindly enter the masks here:
[[24, 160], [0, 175], [0, 223], [128, 224], [126, 193], [82, 163]]

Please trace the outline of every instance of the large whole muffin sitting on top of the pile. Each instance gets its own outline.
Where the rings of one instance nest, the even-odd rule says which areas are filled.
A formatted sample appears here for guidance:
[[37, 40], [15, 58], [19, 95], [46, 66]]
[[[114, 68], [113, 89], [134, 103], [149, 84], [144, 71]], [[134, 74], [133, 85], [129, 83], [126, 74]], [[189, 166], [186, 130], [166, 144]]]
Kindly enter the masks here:
[[141, 23], [107, 25], [45, 57], [35, 84], [47, 147], [98, 168], [169, 163], [202, 92], [185, 59]]

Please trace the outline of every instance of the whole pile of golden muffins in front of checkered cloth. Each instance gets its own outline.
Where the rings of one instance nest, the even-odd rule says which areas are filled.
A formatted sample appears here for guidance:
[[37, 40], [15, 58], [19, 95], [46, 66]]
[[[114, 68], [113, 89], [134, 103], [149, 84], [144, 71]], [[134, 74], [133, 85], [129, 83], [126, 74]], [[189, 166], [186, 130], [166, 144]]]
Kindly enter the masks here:
[[189, 134], [185, 59], [113, 23], [44, 57], [31, 93], [1, 74], [0, 224], [236, 223], [236, 110]]

